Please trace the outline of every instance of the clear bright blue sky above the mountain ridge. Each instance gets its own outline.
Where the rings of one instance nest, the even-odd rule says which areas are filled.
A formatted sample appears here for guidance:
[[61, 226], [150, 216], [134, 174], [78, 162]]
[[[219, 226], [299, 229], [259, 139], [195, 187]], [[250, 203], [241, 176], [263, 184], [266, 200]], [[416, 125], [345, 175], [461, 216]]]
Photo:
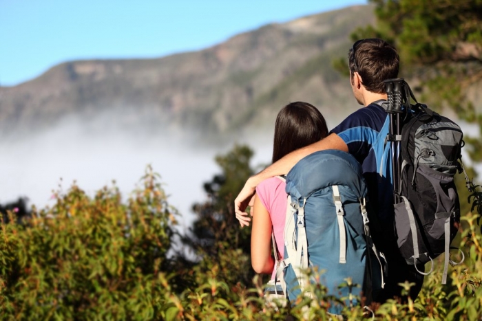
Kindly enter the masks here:
[[366, 0], [0, 0], [0, 86], [67, 60], [154, 58]]

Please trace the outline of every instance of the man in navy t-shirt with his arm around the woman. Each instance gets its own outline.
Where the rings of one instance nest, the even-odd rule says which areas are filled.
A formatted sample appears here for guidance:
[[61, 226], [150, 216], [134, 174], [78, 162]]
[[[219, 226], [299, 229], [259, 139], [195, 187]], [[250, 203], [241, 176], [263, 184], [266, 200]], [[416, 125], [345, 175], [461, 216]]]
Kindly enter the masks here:
[[[378, 226], [371, 227], [373, 240], [377, 248], [384, 252], [388, 262], [387, 282], [377, 301], [384, 302], [394, 296], [401, 296], [398, 283], [406, 280], [416, 284], [410, 291], [411, 298], [415, 299], [421, 289], [423, 275], [407, 265], [399, 254], [393, 232], [395, 214], [391, 162], [390, 157], [383, 153], [390, 125], [383, 106], [387, 99], [383, 81], [397, 78], [399, 56], [394, 47], [381, 39], [362, 39], [349, 50], [348, 64], [353, 96], [364, 108], [349, 115], [328, 137], [286, 155], [250, 177], [234, 201], [235, 214], [241, 226], [249, 225], [251, 218], [244, 210], [254, 195], [255, 186], [266, 178], [288, 173], [303, 157], [325, 149], [348, 152], [362, 164], [371, 210], [376, 213], [379, 221]], [[423, 267], [419, 269], [422, 270]]]

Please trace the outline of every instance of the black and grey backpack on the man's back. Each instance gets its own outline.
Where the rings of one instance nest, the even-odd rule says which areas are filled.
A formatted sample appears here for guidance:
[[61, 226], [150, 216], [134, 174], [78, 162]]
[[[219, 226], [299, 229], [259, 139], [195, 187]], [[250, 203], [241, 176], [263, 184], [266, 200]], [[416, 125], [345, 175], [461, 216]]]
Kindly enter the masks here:
[[[445, 284], [449, 262], [463, 262], [463, 252], [458, 263], [449, 255], [450, 243], [457, 234], [454, 223], [460, 220], [454, 175], [461, 169], [463, 133], [452, 120], [419, 104], [406, 82], [402, 87], [406, 104], [399, 120], [401, 136], [397, 136], [401, 164], [395, 167], [398, 181], [394, 181], [394, 192], [399, 200], [395, 203], [395, 234], [401, 255], [417, 271], [417, 265], [432, 261], [430, 271], [419, 271], [421, 274], [430, 274], [433, 259], [444, 253]], [[415, 105], [410, 104], [410, 97]]]

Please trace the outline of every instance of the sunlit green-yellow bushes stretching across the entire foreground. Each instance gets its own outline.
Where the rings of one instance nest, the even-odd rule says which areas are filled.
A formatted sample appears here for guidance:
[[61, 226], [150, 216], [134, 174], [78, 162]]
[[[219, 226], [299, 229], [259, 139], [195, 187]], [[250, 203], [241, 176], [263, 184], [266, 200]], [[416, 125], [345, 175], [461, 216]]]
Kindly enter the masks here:
[[[115, 187], [89, 197], [74, 185], [55, 195], [52, 208], [34, 209], [30, 221], [2, 223], [1, 319], [330, 320], [329, 305], [344, 305], [322, 285], [311, 285], [312, 298], [300, 296], [295, 307], [266, 307], [262, 278], [255, 276], [252, 285], [240, 281], [251, 270], [241, 248], [219, 247], [216, 256], [180, 263], [168, 255], [176, 210], [150, 168], [143, 182], [125, 202]], [[476, 219], [463, 217], [465, 262], [450, 269], [447, 285], [435, 271], [417, 300], [370, 305], [375, 318], [479, 320], [482, 236]], [[410, 285], [404, 287], [408, 293]], [[366, 311], [348, 305], [343, 313], [346, 320], [371, 318]]]

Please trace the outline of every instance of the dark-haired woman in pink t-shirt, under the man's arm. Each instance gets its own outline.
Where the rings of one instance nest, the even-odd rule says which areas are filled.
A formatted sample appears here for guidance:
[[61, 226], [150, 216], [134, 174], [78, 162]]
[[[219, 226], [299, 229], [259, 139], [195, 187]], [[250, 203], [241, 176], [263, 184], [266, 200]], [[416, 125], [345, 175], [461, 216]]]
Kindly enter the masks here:
[[[308, 102], [292, 102], [278, 113], [275, 123], [273, 159], [276, 162], [284, 155], [321, 140], [328, 135], [322, 113]], [[280, 177], [262, 181], [256, 188], [253, 205], [253, 229], [251, 231], [251, 265], [256, 273], [271, 273], [274, 285], [275, 259], [271, 256], [271, 234], [277, 246], [277, 257], [284, 253], [284, 220], [286, 215], [286, 184]], [[273, 293], [269, 287], [266, 293]], [[277, 287], [279, 294], [282, 289]]]

